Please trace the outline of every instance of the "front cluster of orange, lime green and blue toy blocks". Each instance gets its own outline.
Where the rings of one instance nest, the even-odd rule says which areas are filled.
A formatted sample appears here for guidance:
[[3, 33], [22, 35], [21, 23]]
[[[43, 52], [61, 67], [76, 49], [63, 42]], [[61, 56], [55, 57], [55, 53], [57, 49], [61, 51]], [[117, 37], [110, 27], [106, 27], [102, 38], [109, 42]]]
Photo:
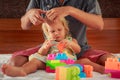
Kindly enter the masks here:
[[56, 80], [80, 80], [80, 78], [86, 78], [86, 76], [92, 77], [92, 71], [93, 67], [90, 65], [83, 66], [80, 64], [73, 64], [59, 66], [56, 67], [55, 70]]

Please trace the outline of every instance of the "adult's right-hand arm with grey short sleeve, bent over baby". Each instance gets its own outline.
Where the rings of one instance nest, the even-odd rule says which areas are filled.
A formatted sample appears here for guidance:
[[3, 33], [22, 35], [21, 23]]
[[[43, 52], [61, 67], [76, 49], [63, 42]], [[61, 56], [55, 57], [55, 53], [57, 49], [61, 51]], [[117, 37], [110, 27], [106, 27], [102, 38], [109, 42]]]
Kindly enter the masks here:
[[104, 23], [99, 4], [97, 0], [91, 1], [92, 0], [88, 0], [85, 11], [72, 6], [63, 6], [49, 10], [46, 15], [51, 20], [70, 15], [89, 28], [102, 30]]

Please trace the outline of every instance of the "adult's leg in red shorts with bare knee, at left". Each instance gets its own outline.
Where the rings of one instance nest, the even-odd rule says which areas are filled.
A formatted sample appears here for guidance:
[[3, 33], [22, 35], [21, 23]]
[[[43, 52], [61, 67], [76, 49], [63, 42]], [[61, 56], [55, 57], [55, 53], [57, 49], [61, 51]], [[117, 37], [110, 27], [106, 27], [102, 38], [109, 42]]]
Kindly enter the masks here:
[[23, 64], [28, 62], [28, 56], [36, 53], [39, 50], [40, 46], [41, 45], [38, 45], [26, 50], [14, 52], [8, 64], [21, 67]]

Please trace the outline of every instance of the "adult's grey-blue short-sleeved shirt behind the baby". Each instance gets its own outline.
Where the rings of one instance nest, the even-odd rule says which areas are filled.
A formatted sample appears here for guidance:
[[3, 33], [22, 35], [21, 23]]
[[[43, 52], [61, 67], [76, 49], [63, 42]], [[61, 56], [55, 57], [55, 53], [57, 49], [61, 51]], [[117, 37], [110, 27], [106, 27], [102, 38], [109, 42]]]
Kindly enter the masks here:
[[[61, 6], [73, 6], [88, 13], [101, 15], [101, 10], [97, 0], [64, 0], [63, 3], [60, 3], [60, 0], [30, 0], [27, 10], [31, 8], [50, 10]], [[86, 37], [87, 27], [71, 16], [67, 16], [66, 19], [69, 22], [69, 29], [72, 37], [78, 41], [81, 47], [81, 52], [77, 54], [77, 57], [79, 58], [86, 50], [90, 48]]]

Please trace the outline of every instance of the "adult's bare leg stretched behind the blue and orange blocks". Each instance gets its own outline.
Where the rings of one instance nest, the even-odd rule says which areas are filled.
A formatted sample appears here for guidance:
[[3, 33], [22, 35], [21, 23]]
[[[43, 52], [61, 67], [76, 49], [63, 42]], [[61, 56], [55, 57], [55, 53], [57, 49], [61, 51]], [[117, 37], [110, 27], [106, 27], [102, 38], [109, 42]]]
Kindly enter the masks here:
[[75, 63], [76, 64], [91, 65], [91, 66], [93, 66], [94, 71], [102, 73], [102, 74], [104, 73], [104, 69], [105, 69], [104, 66], [101, 66], [97, 63], [94, 63], [87, 58], [81, 58], [81, 59], [77, 60]]

